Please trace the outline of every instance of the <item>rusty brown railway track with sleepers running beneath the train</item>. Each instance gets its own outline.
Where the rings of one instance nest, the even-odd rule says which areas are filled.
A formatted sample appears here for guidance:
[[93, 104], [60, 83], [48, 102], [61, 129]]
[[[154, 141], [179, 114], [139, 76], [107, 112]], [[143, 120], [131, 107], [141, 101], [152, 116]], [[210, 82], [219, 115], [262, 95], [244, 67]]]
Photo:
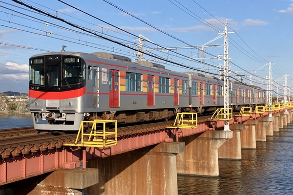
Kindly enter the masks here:
[[[210, 116], [198, 117], [198, 123], [205, 122]], [[138, 125], [123, 126], [117, 129], [118, 139], [135, 135], [166, 131], [174, 121], [159, 121]], [[111, 131], [114, 129], [109, 129]], [[19, 156], [38, 151], [61, 148], [63, 143], [75, 141], [77, 132], [39, 132], [33, 127], [0, 130], [0, 157]]]

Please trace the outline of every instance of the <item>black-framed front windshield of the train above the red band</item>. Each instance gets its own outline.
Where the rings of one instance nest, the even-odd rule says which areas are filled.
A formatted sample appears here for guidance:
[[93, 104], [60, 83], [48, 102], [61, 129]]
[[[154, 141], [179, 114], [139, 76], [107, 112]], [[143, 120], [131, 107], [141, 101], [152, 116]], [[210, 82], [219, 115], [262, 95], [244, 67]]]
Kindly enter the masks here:
[[29, 80], [32, 85], [54, 91], [77, 89], [85, 84], [85, 63], [79, 57], [49, 55], [30, 59]]

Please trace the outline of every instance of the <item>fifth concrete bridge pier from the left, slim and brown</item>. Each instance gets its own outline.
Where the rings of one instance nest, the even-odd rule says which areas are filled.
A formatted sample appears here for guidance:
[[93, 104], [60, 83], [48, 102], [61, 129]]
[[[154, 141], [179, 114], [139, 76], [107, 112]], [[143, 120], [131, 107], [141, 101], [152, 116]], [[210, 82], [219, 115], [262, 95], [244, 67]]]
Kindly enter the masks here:
[[255, 126], [258, 124], [258, 120], [248, 120], [243, 124], [244, 130], [240, 132], [241, 148], [256, 149]]

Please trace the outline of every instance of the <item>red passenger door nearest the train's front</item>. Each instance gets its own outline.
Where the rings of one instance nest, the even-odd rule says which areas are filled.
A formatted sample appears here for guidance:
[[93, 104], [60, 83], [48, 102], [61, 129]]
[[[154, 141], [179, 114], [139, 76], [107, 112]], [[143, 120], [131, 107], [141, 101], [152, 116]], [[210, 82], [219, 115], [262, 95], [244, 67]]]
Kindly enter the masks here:
[[119, 71], [109, 72], [109, 107], [119, 107]]

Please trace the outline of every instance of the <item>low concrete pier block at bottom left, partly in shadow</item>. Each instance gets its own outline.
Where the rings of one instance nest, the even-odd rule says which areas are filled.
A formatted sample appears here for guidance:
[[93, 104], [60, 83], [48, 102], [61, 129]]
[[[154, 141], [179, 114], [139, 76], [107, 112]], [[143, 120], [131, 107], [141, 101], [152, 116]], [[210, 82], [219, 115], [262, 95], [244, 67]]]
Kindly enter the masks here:
[[82, 195], [83, 190], [99, 182], [98, 169], [59, 169], [42, 176], [19, 181], [13, 195]]

